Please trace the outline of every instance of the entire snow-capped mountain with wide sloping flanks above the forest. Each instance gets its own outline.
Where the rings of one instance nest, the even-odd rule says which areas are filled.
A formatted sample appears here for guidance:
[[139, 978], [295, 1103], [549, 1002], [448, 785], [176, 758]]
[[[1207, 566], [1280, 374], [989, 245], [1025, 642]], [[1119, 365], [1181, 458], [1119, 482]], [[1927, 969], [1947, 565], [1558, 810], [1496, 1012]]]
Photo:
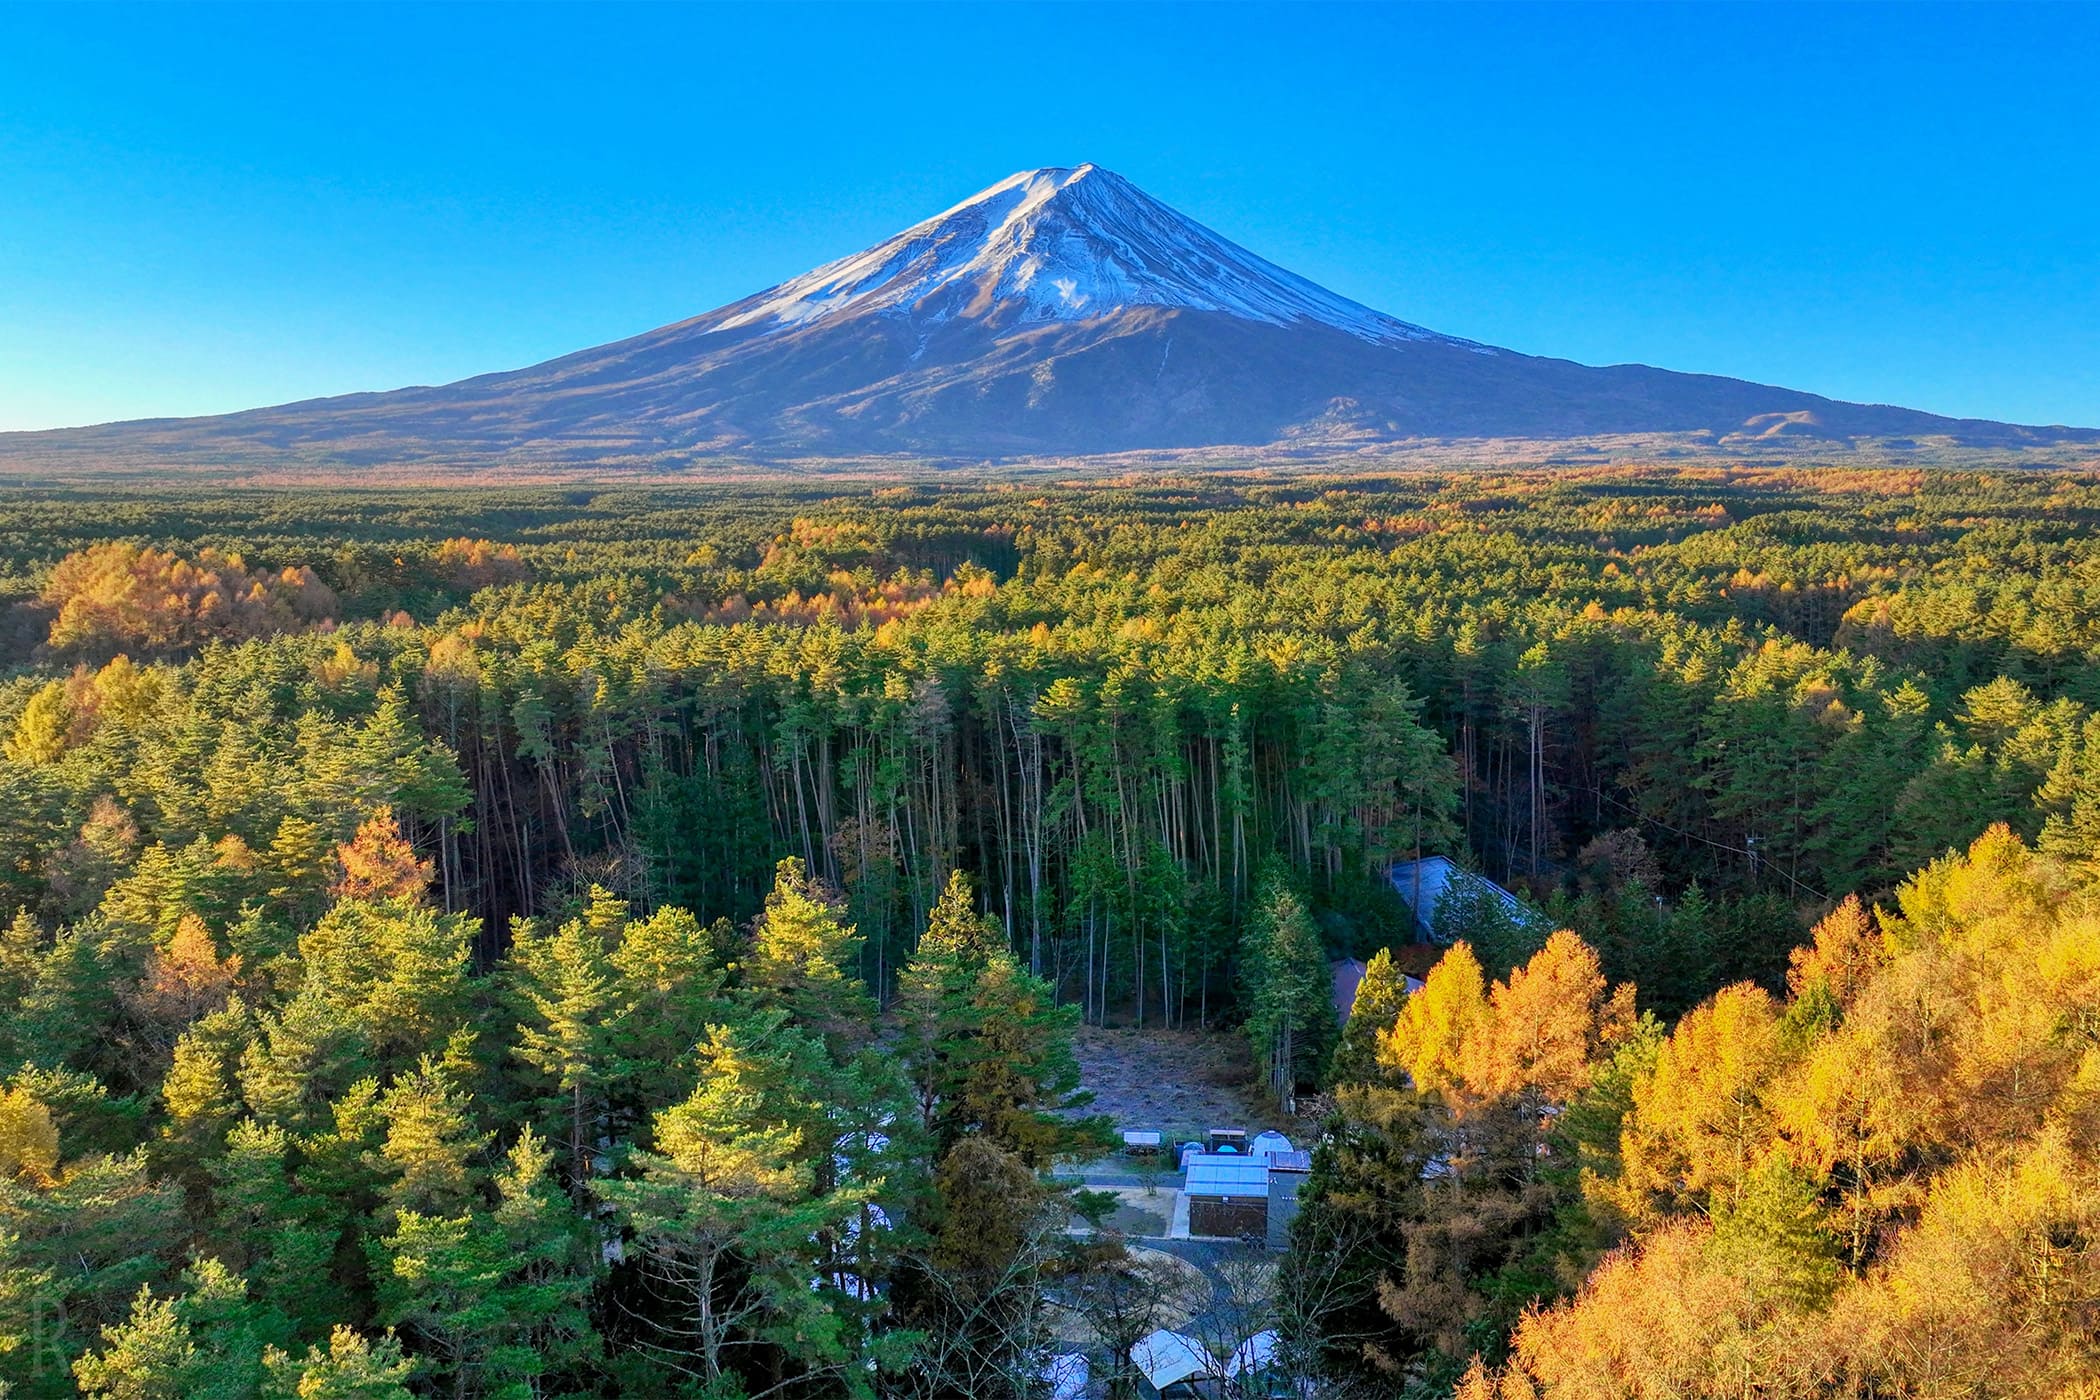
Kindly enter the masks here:
[[2100, 441], [1445, 336], [1075, 166], [1014, 174], [741, 302], [527, 369], [216, 418], [10, 432], [0, 462], [680, 466], [1606, 434], [1714, 447]]

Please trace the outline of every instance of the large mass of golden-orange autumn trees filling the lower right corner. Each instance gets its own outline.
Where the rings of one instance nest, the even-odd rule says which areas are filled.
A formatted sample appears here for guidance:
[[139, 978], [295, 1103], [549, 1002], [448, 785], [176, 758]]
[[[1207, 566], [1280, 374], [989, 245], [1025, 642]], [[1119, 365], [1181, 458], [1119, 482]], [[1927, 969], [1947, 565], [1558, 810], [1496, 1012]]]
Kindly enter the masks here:
[[2100, 1379], [2100, 884], [1993, 827], [1840, 905], [1632, 1087], [1634, 1238], [1466, 1400], [2001, 1396]]

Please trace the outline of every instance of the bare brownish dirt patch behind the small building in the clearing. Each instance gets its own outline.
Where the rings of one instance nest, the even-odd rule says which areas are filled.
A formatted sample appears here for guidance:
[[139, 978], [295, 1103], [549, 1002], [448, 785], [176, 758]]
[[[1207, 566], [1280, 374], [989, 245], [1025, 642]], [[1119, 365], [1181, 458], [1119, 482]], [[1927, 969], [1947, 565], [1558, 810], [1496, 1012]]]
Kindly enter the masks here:
[[1082, 1026], [1073, 1052], [1094, 1091], [1088, 1112], [1109, 1115], [1119, 1129], [1157, 1129], [1170, 1144], [1199, 1138], [1208, 1127], [1292, 1131], [1252, 1089], [1254, 1062], [1239, 1035]]

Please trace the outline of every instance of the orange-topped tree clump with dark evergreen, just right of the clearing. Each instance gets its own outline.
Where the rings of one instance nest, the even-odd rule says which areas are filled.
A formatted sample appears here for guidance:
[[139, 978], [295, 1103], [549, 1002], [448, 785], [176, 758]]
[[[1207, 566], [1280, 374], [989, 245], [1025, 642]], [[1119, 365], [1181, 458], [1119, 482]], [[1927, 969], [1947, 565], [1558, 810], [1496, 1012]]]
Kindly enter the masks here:
[[1401, 1003], [1378, 1041], [1384, 1073], [1338, 1089], [1342, 1125], [1304, 1205], [1308, 1253], [1331, 1238], [1378, 1259], [1369, 1301], [1323, 1322], [1357, 1337], [1371, 1375], [1426, 1379], [1464, 1360], [1554, 1287], [1558, 1257], [1588, 1251], [1562, 1217], [1588, 1163], [1581, 1133], [1617, 1119], [1573, 1110], [1636, 1024], [1632, 989], [1611, 993], [1567, 930], [1497, 982], [1453, 945]]

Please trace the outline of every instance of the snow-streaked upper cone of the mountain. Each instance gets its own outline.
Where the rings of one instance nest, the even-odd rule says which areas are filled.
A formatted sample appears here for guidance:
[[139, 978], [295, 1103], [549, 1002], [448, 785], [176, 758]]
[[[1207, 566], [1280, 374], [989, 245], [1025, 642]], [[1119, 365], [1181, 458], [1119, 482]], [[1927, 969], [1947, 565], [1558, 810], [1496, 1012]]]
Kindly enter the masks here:
[[892, 239], [739, 302], [710, 330], [766, 332], [880, 311], [914, 325], [1088, 321], [1134, 306], [1331, 325], [1371, 344], [1409, 325], [1258, 258], [1100, 166], [1023, 170]]

